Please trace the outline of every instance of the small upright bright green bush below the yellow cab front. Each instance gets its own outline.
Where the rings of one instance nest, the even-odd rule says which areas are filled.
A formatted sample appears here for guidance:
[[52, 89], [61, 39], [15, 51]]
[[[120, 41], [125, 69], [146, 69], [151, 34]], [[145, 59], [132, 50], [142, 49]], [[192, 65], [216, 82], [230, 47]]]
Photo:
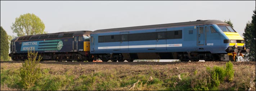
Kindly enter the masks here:
[[226, 63], [226, 69], [225, 69], [225, 73], [229, 81], [233, 80], [234, 72], [235, 70], [233, 69], [233, 64], [229, 61], [228, 63]]

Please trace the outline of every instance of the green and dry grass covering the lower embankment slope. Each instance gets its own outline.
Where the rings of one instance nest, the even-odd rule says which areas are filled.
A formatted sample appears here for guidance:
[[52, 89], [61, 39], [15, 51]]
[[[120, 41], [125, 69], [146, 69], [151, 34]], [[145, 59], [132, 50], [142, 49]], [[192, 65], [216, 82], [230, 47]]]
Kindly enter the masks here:
[[[148, 69], [130, 69], [127, 73], [116, 69], [95, 69], [75, 74], [73, 69], [56, 72], [52, 68], [42, 68], [40, 79], [26, 90], [255, 90], [255, 66], [229, 66], [235, 70], [232, 80], [231, 75], [219, 77], [225, 73], [225, 65], [191, 69], [190, 72], [183, 72], [185, 68], [182, 67], [164, 70], [156, 70], [152, 65], [140, 67]], [[232, 73], [231, 68], [226, 69]], [[213, 75], [214, 72], [209, 70], [219, 74]], [[19, 73], [15, 66], [1, 65], [1, 90], [24, 90]], [[212, 83], [217, 78], [213, 76], [219, 77], [219, 85]]]

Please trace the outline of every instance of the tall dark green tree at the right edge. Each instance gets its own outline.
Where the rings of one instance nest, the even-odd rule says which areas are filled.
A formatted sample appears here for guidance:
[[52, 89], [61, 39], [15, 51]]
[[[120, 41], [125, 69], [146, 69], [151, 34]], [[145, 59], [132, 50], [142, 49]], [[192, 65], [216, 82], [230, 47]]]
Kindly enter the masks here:
[[245, 41], [245, 46], [246, 48], [250, 49], [250, 52], [248, 53], [248, 59], [251, 61], [255, 61], [255, 10], [253, 11], [252, 15], [252, 21], [248, 22], [246, 24], [246, 28], [244, 29], [244, 41]]

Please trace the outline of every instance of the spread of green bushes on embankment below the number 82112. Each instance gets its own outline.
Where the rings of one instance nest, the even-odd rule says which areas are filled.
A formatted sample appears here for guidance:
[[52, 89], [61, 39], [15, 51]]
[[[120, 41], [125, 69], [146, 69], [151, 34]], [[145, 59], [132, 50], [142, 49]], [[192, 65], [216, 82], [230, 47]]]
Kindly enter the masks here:
[[232, 81], [234, 78], [233, 64], [226, 63], [226, 67], [214, 66], [213, 68], [206, 67], [206, 72], [194, 72], [194, 77], [191, 81], [191, 90], [218, 90], [220, 83], [223, 83], [225, 78]]

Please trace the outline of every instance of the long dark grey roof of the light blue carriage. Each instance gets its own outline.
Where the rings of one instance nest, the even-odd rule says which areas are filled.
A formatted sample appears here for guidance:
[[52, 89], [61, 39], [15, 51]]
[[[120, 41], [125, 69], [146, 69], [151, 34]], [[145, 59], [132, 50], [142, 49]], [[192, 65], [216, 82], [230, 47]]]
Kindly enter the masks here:
[[180, 22], [180, 23], [168, 23], [168, 24], [156, 24], [147, 26], [135, 26], [135, 27], [124, 27], [124, 28], [111, 28], [111, 29], [100, 29], [93, 31], [95, 32], [108, 32], [108, 31], [125, 31], [128, 29], [141, 29], [141, 28], [156, 28], [156, 27], [174, 27], [174, 26], [192, 26], [192, 25], [205, 25], [205, 24], [227, 24], [219, 20], [197, 20], [192, 22]]

